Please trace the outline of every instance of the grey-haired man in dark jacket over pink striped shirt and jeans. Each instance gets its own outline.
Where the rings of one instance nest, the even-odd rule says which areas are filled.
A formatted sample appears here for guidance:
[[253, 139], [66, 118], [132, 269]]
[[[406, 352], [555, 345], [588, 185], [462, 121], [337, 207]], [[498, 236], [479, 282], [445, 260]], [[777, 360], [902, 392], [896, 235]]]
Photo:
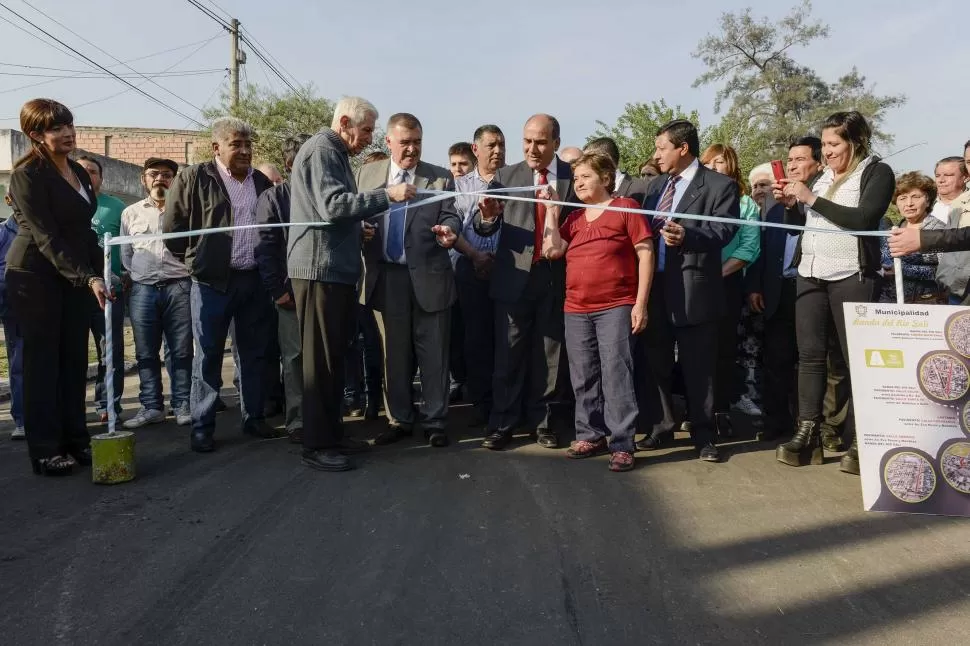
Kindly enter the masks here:
[[[253, 168], [253, 127], [236, 117], [212, 124], [214, 159], [183, 170], [175, 178], [162, 214], [165, 233], [256, 224], [256, 200], [273, 183]], [[255, 228], [165, 241], [192, 275], [193, 451], [215, 450], [216, 400], [222, 388], [222, 358], [229, 323], [239, 354], [242, 431], [259, 438], [279, 437], [263, 413], [266, 339], [272, 303], [256, 269]]]

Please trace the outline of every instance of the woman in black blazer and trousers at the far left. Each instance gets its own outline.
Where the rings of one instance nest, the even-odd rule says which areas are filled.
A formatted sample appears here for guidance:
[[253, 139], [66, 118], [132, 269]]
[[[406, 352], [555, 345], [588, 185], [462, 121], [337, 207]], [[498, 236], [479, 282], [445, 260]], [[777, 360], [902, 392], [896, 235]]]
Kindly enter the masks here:
[[104, 258], [91, 229], [97, 198], [75, 149], [74, 117], [50, 99], [20, 111], [30, 151], [10, 176], [19, 232], [7, 294], [24, 337], [24, 426], [35, 473], [91, 463], [84, 394], [91, 295], [104, 307]]

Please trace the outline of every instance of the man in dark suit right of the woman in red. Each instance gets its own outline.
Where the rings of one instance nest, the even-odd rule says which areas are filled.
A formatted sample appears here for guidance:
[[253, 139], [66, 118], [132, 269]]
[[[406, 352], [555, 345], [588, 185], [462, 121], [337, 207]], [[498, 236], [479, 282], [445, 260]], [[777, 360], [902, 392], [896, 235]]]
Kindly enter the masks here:
[[653, 423], [641, 450], [660, 448], [672, 437], [676, 421], [671, 402], [674, 344], [687, 391], [687, 417], [700, 459], [720, 459], [714, 445], [714, 373], [717, 324], [724, 298], [721, 249], [737, 227], [722, 222], [678, 219], [678, 213], [740, 218], [740, 190], [731, 178], [709, 171], [697, 160], [700, 142], [690, 121], [676, 119], [657, 132], [654, 154], [663, 172], [647, 191], [644, 208], [655, 216], [657, 271], [650, 294], [645, 332], [651, 370], [641, 385], [641, 415]]

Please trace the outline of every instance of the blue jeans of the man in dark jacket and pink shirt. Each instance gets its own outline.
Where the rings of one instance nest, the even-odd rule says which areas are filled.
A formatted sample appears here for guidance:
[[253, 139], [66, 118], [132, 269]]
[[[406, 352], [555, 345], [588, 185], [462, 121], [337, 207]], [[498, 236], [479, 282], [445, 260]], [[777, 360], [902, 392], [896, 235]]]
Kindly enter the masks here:
[[216, 425], [216, 399], [222, 388], [222, 359], [230, 321], [235, 324], [239, 353], [240, 412], [243, 427], [263, 419], [266, 391], [266, 335], [270, 300], [259, 272], [231, 271], [225, 292], [192, 282], [192, 428], [212, 433]]

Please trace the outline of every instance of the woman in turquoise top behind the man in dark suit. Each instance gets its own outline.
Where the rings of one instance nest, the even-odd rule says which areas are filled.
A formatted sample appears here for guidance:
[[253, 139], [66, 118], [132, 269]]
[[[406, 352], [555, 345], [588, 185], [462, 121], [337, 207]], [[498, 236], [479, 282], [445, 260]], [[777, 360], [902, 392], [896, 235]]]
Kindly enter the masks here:
[[[741, 219], [760, 220], [758, 205], [748, 196], [747, 183], [741, 176], [741, 164], [734, 148], [722, 144], [709, 146], [701, 155], [707, 168], [727, 175], [741, 189]], [[753, 263], [761, 250], [761, 231], [755, 226], [740, 226], [731, 242], [721, 251], [721, 276], [724, 278], [724, 314], [719, 325], [717, 374], [714, 379], [714, 426], [721, 437], [734, 431], [728, 416], [738, 391], [738, 325], [744, 300], [744, 268]], [[744, 396], [744, 395], [742, 395]]]

